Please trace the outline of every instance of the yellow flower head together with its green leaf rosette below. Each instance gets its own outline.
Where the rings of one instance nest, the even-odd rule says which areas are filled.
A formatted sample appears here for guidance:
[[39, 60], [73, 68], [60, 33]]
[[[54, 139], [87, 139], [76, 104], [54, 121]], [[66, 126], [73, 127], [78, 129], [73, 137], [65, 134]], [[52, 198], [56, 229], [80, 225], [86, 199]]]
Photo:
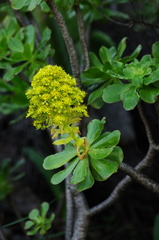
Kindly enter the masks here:
[[105, 119], [93, 120], [87, 126], [86, 137], [81, 137], [76, 126], [88, 116], [83, 105], [86, 93], [76, 86], [76, 80], [58, 66], [48, 65], [34, 76], [26, 93], [30, 100], [27, 117], [34, 119], [37, 129], [50, 128], [52, 137], [67, 135], [54, 142], [64, 144], [62, 152], [48, 156], [43, 167], [47, 170], [67, 167], [53, 175], [51, 182], [58, 184], [72, 173], [71, 184], [79, 191], [90, 188], [94, 179], [104, 181], [117, 171], [123, 152], [117, 147], [120, 132], [101, 135]]

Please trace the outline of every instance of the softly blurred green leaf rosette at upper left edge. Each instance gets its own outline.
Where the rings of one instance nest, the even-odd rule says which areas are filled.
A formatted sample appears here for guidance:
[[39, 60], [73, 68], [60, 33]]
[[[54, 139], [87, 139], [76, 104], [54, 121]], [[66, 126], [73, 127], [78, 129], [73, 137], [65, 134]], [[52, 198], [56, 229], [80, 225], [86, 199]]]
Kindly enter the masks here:
[[2, 22], [5, 28], [0, 30], [0, 68], [6, 69], [3, 80], [10, 81], [20, 72], [31, 78], [35, 71], [46, 65], [46, 58], [54, 51], [47, 42], [51, 31], [44, 29], [38, 46], [35, 45], [35, 28], [33, 25], [20, 28], [16, 18], [7, 16]]

